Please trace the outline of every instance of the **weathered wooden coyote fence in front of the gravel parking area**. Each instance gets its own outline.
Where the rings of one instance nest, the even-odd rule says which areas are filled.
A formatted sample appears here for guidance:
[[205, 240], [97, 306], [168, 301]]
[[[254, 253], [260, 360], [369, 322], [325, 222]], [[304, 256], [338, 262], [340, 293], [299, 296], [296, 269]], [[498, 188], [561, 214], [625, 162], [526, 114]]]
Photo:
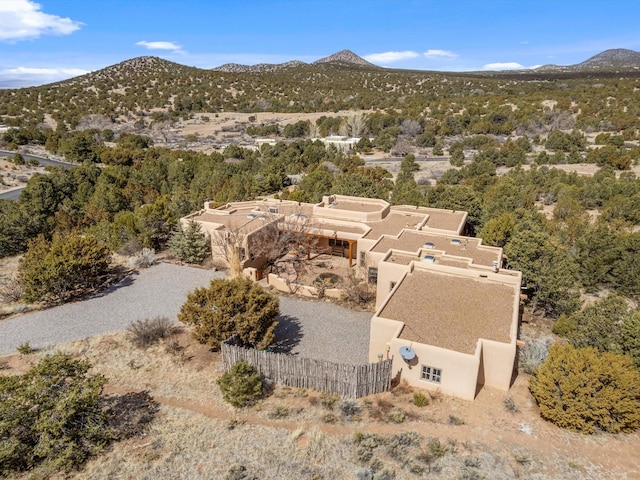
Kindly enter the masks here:
[[346, 398], [366, 397], [391, 388], [391, 360], [349, 365], [244, 348], [235, 343], [233, 337], [222, 342], [226, 372], [235, 363], [245, 360], [278, 384], [337, 393]]

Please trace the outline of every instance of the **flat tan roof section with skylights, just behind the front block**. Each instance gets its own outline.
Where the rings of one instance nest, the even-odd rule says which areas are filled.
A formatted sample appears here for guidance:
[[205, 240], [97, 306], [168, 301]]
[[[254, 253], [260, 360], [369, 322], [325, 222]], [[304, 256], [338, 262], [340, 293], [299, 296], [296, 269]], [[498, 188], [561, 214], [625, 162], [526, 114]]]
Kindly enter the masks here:
[[403, 230], [398, 238], [383, 237], [371, 251], [385, 253], [391, 249], [405, 252], [432, 249], [443, 251], [447, 255], [470, 258], [473, 263], [486, 266], [492, 266], [494, 261], [499, 262], [502, 256], [500, 248], [481, 245], [481, 239], [479, 238], [461, 235], [441, 235], [424, 230]]

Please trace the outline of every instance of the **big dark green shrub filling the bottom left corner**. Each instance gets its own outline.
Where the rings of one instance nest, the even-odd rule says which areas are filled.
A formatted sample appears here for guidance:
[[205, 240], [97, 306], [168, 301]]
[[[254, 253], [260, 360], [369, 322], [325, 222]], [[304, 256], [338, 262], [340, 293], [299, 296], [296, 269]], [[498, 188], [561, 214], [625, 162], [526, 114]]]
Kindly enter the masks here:
[[57, 353], [24, 375], [0, 377], [0, 473], [69, 470], [112, 439], [99, 400], [107, 379]]

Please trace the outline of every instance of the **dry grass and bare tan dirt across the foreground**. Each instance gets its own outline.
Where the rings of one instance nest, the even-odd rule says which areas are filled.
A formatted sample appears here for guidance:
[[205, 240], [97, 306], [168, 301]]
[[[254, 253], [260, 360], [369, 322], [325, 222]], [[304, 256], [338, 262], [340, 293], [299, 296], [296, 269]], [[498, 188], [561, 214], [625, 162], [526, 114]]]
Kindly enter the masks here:
[[[176, 360], [170, 348], [176, 342], [189, 359]], [[144, 350], [131, 345], [125, 332], [63, 345], [61, 350], [91, 361], [96, 372], [110, 379], [107, 392], [148, 390], [161, 405], [144, 436], [115, 444], [72, 474], [74, 479], [223, 479], [232, 467], [244, 469], [247, 478], [283, 480], [351, 480], [369, 467], [395, 470], [396, 480], [424, 478], [426, 473], [418, 471], [427, 467], [440, 471], [438, 478], [461, 478], [465, 468], [494, 479], [630, 479], [639, 473], [634, 463], [638, 435], [563, 432], [538, 417], [526, 382], [520, 380], [511, 393], [520, 407], [516, 413], [505, 412], [504, 394], [490, 389], [475, 402], [430, 395], [431, 403], [418, 408], [412, 404], [415, 389], [400, 384], [395, 394], [358, 400], [362, 413], [351, 420], [341, 418], [339, 402], [334, 402], [335, 418], [327, 423], [324, 397], [301, 389], [276, 387], [250, 409], [225, 404], [216, 385], [222, 373], [219, 354], [195, 344], [186, 332]], [[48, 353], [51, 350], [29, 359], [2, 359], [0, 374], [24, 371], [29, 361]], [[388, 416], [398, 408], [406, 412], [400, 424]], [[450, 415], [463, 418], [464, 424], [449, 425]], [[379, 446], [371, 447], [364, 463], [361, 445], [354, 442], [356, 432], [378, 439]], [[416, 435], [410, 432], [417, 432], [420, 440], [405, 445], [402, 435]], [[434, 439], [447, 453], [430, 465], [420, 464], [421, 452]]]

